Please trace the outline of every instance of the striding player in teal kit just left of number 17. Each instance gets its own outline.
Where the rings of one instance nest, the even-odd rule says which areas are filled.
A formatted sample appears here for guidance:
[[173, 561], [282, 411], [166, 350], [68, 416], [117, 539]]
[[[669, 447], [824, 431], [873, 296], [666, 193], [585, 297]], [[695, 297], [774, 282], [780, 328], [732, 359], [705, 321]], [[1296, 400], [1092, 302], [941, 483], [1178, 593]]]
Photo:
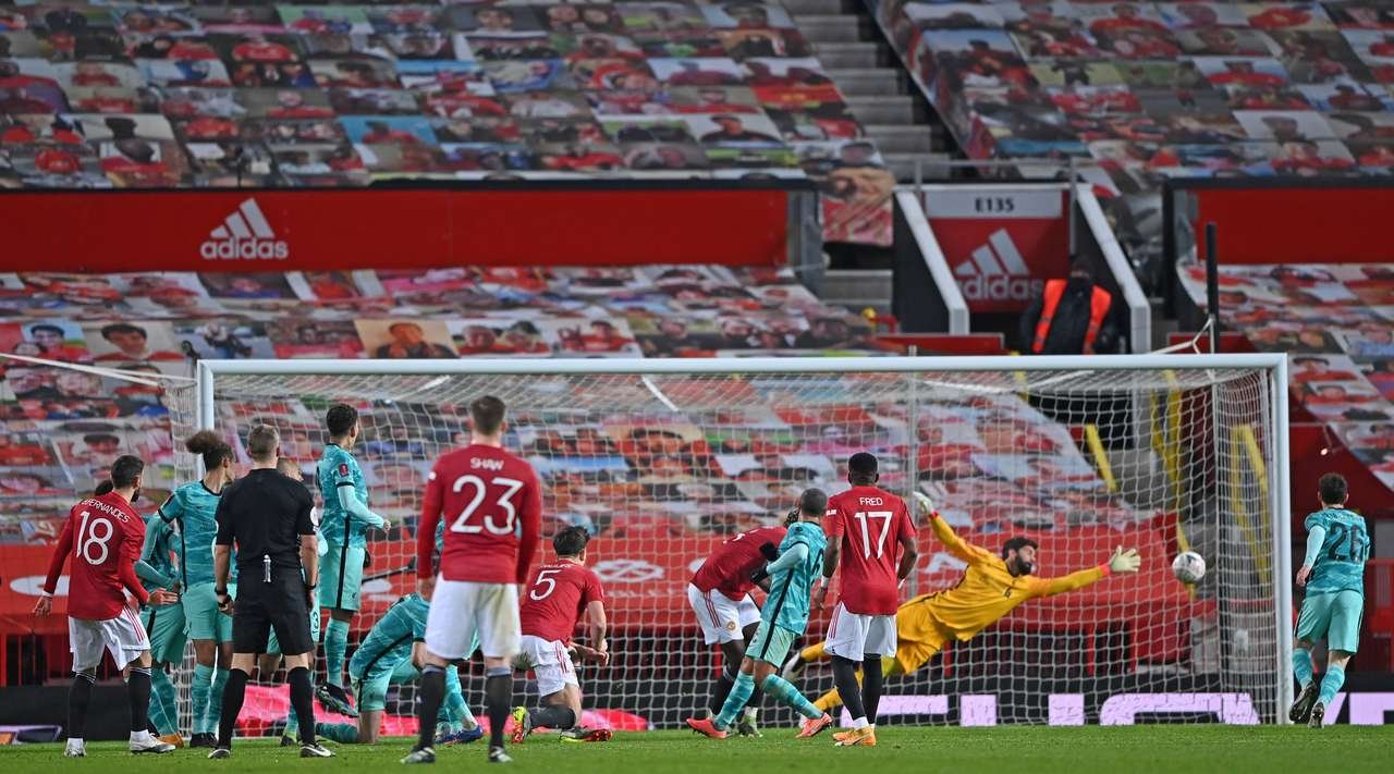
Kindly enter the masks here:
[[[800, 736], [813, 736], [832, 724], [832, 717], [813, 706], [799, 689], [779, 676], [796, 637], [809, 628], [809, 600], [813, 580], [822, 575], [822, 551], [828, 537], [822, 534], [822, 516], [828, 510], [828, 495], [822, 490], [804, 490], [799, 498], [799, 520], [789, 526], [779, 544], [779, 558], [758, 572], [757, 583], [769, 577], [769, 595], [760, 609], [760, 629], [746, 647], [736, 685], [726, 695], [721, 714], [715, 718], [689, 718], [687, 725], [712, 739], [725, 739], [736, 715], [750, 700], [760, 683], [765, 696], [793, 707], [806, 720]], [[793, 516], [793, 515], [790, 515]]]

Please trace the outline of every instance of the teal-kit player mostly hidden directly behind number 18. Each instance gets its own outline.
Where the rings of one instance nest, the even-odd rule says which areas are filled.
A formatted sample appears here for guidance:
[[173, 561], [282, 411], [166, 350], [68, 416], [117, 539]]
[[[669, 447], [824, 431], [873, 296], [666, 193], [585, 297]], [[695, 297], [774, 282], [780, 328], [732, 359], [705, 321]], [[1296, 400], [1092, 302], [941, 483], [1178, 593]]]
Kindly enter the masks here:
[[[110, 481], [103, 481], [96, 494], [110, 491]], [[171, 538], [174, 531], [169, 523], [159, 516], [145, 519], [145, 547], [141, 559], [135, 562], [135, 575], [141, 577], [146, 591], [164, 589], [178, 591], [178, 565], [173, 559], [174, 547]], [[151, 605], [141, 614], [141, 623], [145, 625], [146, 636], [151, 639], [151, 722], [160, 742], [167, 742], [176, 748], [184, 746], [184, 736], [178, 729], [178, 696], [174, 683], [170, 682], [169, 667], [184, 660], [184, 605], [173, 602], [167, 605]]]

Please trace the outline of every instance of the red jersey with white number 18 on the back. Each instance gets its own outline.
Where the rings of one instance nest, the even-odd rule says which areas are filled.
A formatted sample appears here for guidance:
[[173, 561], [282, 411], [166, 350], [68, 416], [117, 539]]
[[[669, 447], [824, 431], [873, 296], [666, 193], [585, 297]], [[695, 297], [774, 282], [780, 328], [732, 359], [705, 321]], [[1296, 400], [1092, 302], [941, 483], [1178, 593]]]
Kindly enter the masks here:
[[135, 561], [145, 544], [145, 523], [116, 492], [88, 498], [72, 506], [49, 561], [43, 590], [59, 586], [63, 565], [68, 569], [68, 615], [85, 621], [110, 621], [121, 615], [128, 590], [144, 604], [149, 594], [135, 576]]

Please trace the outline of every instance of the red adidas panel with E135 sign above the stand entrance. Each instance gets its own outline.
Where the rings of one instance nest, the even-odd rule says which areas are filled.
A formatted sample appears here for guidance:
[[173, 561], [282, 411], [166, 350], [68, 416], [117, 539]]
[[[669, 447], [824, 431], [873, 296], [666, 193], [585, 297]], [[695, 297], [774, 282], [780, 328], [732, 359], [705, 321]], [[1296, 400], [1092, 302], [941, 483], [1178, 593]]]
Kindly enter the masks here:
[[1062, 185], [927, 185], [924, 208], [974, 312], [1019, 312], [1069, 272]]

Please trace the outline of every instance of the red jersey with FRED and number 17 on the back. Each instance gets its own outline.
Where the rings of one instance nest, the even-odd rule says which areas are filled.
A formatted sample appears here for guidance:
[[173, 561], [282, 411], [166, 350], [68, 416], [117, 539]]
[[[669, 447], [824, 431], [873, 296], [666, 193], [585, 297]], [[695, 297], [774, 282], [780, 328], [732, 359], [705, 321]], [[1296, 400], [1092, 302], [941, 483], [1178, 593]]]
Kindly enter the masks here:
[[842, 540], [842, 604], [860, 615], [895, 615], [895, 565], [902, 536], [914, 536], [905, 501], [880, 487], [852, 487], [828, 498], [828, 540]]

